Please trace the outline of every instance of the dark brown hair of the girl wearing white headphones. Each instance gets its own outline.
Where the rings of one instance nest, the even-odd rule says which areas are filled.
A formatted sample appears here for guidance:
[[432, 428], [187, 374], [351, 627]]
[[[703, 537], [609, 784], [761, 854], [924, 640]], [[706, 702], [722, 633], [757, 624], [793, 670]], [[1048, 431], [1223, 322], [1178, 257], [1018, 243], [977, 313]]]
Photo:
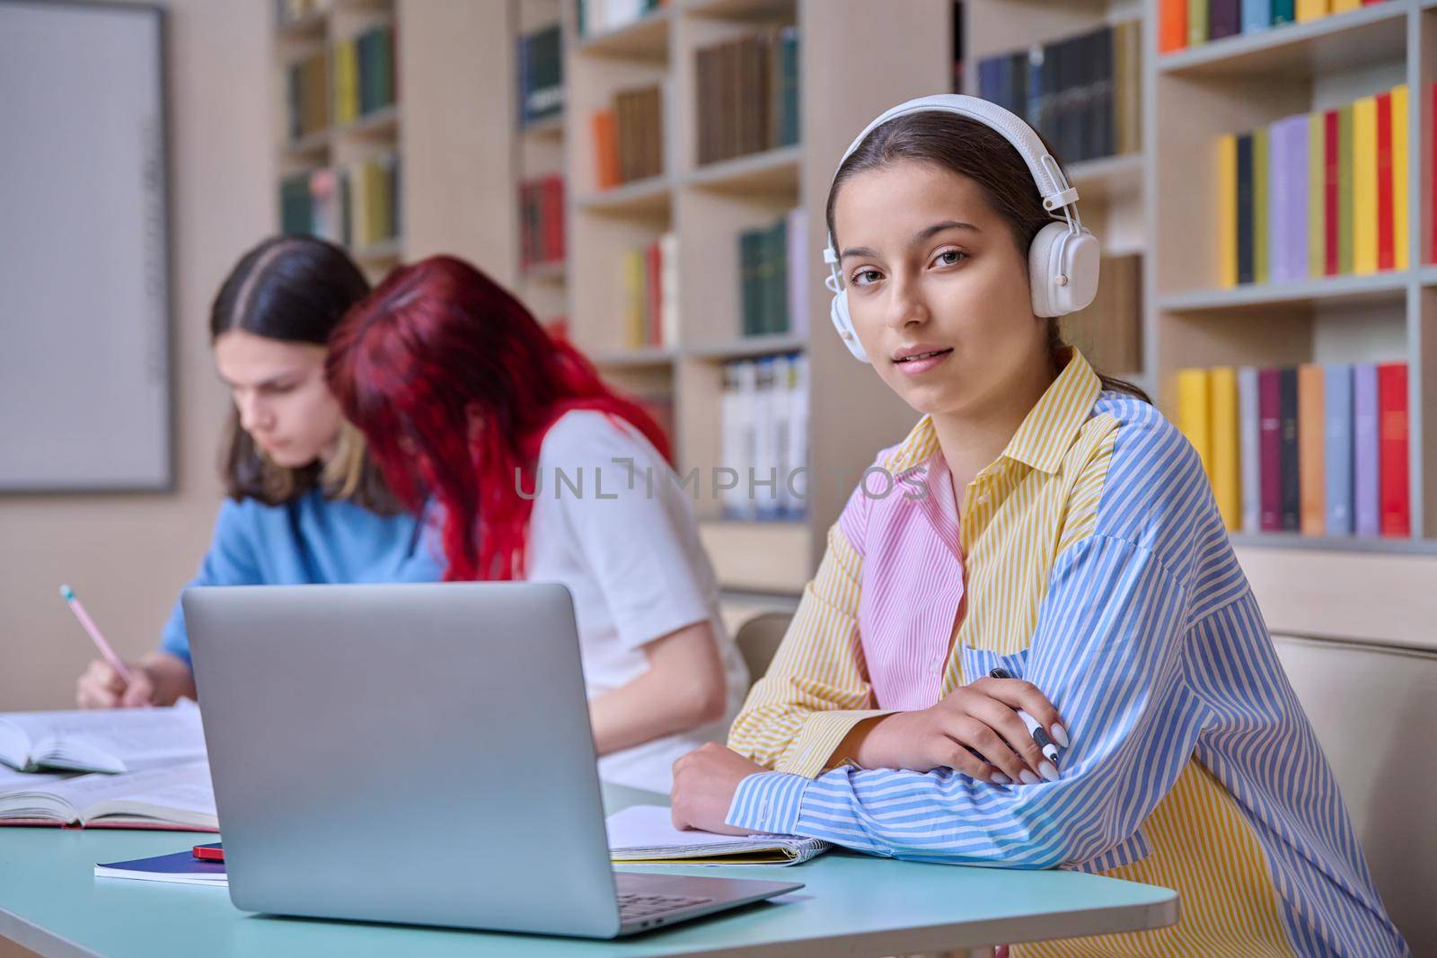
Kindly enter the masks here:
[[[1048, 147], [1046, 139], [1043, 147]], [[1048, 152], [1055, 161], [1058, 159], [1050, 148]], [[1027, 162], [996, 129], [974, 119], [940, 112], [908, 113], [891, 119], [868, 134], [858, 149], [844, 159], [833, 177], [833, 185], [829, 187], [825, 210], [828, 234], [833, 237], [835, 250], [838, 233], [833, 228], [833, 205], [838, 201], [838, 191], [861, 172], [905, 159], [931, 164], [979, 184], [989, 205], [1007, 223], [1023, 264], [1027, 264], [1027, 247], [1032, 246], [1033, 237], [1052, 223]], [[1058, 353], [1068, 348], [1056, 317], [1048, 320], [1048, 348], [1055, 361]], [[1147, 392], [1131, 382], [1101, 372], [1098, 379], [1102, 381], [1104, 389], [1152, 402]]]

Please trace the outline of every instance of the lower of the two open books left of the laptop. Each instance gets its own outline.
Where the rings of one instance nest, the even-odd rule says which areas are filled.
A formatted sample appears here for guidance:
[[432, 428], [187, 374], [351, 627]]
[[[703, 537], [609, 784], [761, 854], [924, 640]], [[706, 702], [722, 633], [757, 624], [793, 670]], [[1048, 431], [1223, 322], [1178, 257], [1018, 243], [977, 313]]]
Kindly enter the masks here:
[[0, 791], [0, 824], [220, 830], [204, 761], [118, 776], [26, 776], [7, 787]]

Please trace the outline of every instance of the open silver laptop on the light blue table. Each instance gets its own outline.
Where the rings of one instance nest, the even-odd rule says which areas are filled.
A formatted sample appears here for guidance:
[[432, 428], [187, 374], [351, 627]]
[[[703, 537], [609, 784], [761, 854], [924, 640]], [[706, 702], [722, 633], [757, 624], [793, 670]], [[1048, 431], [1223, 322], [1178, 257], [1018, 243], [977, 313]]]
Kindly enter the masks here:
[[802, 885], [614, 872], [568, 589], [184, 593], [230, 899], [614, 938]]

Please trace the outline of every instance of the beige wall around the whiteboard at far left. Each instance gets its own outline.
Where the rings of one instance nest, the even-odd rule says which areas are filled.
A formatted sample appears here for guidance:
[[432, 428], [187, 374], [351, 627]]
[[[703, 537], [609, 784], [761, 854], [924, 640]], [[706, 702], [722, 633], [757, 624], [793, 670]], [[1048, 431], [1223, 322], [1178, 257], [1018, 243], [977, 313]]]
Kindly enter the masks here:
[[154, 648], [220, 501], [226, 396], [205, 326], [226, 271], [276, 224], [273, 4], [165, 6], [178, 485], [164, 496], [0, 496], [0, 711], [73, 701], [92, 646], [59, 597], [62, 582], [122, 656]]

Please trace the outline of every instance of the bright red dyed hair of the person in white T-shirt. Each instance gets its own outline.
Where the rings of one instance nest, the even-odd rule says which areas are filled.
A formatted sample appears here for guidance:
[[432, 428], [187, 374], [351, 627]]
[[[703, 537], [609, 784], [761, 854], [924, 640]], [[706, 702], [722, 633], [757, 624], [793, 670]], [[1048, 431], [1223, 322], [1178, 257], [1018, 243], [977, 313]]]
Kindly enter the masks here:
[[539, 447], [563, 414], [624, 419], [670, 458], [652, 417], [450, 256], [394, 270], [351, 307], [325, 372], [399, 501], [444, 507], [447, 580], [523, 575], [533, 501], [519, 490], [535, 488]]

